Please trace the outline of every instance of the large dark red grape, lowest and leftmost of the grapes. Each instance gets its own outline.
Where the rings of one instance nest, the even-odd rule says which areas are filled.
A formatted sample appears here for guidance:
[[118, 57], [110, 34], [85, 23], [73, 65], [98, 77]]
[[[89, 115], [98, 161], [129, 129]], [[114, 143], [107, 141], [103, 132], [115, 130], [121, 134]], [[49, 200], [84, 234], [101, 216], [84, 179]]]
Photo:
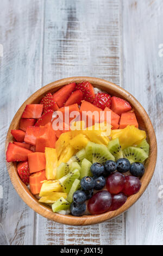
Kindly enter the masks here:
[[108, 191], [99, 191], [92, 196], [87, 204], [90, 214], [103, 214], [111, 206], [111, 194]]

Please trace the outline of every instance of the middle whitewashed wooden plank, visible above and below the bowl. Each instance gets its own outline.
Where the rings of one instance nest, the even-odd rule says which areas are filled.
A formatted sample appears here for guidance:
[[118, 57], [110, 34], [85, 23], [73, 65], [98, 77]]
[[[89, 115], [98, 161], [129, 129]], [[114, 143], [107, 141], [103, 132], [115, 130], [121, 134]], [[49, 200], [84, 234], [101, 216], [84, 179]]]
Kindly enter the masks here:
[[[43, 84], [95, 76], [120, 84], [120, 4], [115, 0], [46, 0]], [[124, 244], [124, 215], [87, 227], [36, 220], [36, 245]]]

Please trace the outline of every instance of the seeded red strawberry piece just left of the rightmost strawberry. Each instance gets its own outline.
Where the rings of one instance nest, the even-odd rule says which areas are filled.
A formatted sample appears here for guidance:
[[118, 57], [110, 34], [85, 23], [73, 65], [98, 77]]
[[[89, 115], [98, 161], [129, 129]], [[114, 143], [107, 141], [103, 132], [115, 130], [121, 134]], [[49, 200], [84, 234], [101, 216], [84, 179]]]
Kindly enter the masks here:
[[93, 101], [93, 105], [96, 107], [102, 108], [103, 110], [105, 107], [111, 106], [111, 96], [108, 93], [97, 93], [95, 95], [95, 100]]

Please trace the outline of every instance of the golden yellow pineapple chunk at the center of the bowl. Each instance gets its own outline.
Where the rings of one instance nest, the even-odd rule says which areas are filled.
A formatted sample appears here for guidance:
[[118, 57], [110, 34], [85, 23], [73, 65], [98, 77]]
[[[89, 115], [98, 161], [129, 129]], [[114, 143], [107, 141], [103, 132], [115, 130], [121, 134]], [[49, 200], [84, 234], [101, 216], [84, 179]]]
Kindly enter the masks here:
[[71, 139], [70, 145], [72, 145], [74, 149], [80, 150], [85, 148], [88, 142], [89, 140], [86, 138], [86, 136], [80, 133]]

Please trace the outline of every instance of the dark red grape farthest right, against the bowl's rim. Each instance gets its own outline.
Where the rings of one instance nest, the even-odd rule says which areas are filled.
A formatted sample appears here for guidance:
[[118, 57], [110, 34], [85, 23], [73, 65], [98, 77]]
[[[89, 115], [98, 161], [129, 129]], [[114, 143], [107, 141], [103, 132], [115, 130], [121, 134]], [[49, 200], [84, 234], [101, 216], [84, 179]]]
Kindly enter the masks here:
[[123, 187], [123, 193], [126, 194], [126, 196], [131, 196], [131, 194], [136, 194], [141, 188], [141, 182], [140, 180], [135, 176], [126, 176], [124, 187]]

